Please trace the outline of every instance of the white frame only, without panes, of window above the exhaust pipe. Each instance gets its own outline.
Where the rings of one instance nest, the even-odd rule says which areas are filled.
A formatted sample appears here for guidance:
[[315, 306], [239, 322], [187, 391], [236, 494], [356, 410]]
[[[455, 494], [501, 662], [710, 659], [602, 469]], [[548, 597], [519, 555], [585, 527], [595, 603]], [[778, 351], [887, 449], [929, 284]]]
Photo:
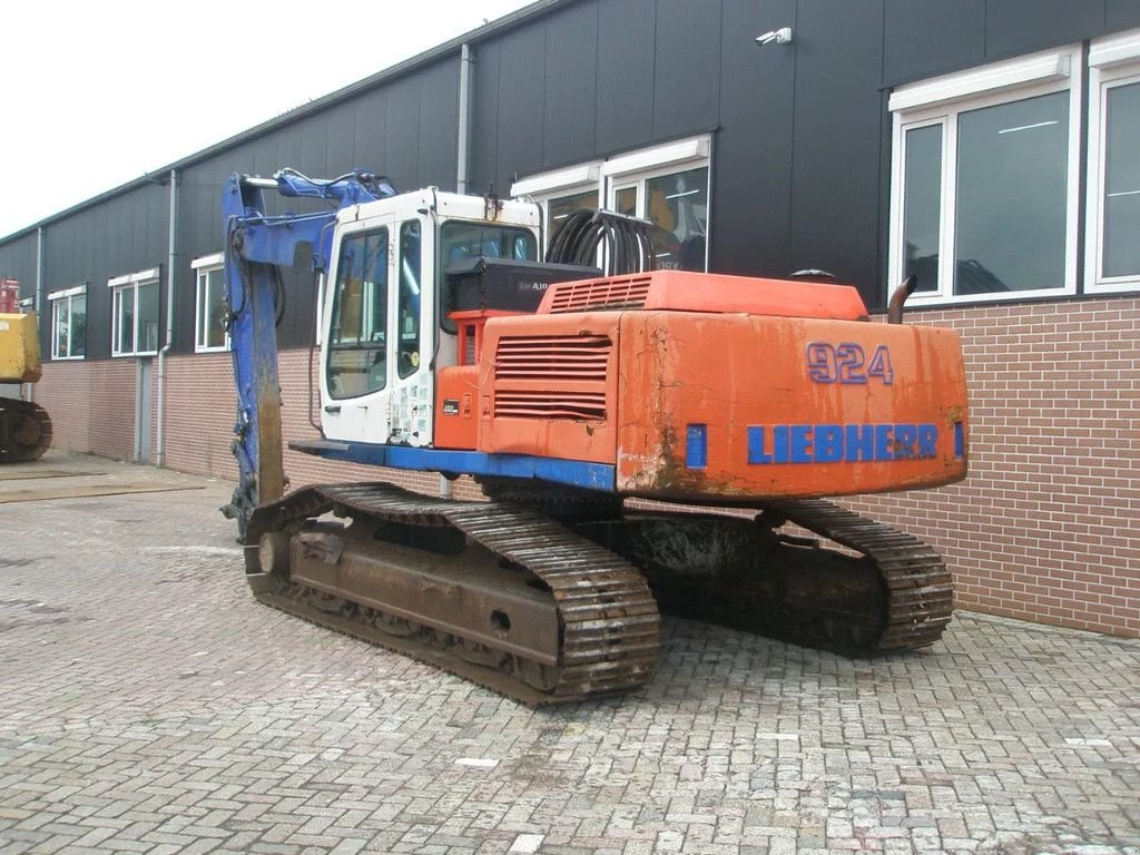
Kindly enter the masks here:
[[[905, 193], [905, 135], [910, 130], [942, 124], [942, 195], [937, 287], [933, 292], [915, 292], [911, 306], [942, 306], [979, 302], [1008, 302], [1043, 296], [1065, 296], [1077, 290], [1077, 244], [1081, 178], [1081, 49], [1070, 46], [1060, 50], [1033, 54], [1018, 59], [994, 63], [958, 74], [913, 83], [896, 89], [889, 101], [893, 116], [890, 170], [890, 244], [887, 272], [887, 296], [902, 282], [903, 203]], [[1069, 93], [1068, 163], [1066, 176], [1065, 272], [1061, 287], [988, 294], [954, 294], [954, 222], [958, 211], [956, 156], [958, 116], [961, 113], [1009, 104], [1053, 92]]]

